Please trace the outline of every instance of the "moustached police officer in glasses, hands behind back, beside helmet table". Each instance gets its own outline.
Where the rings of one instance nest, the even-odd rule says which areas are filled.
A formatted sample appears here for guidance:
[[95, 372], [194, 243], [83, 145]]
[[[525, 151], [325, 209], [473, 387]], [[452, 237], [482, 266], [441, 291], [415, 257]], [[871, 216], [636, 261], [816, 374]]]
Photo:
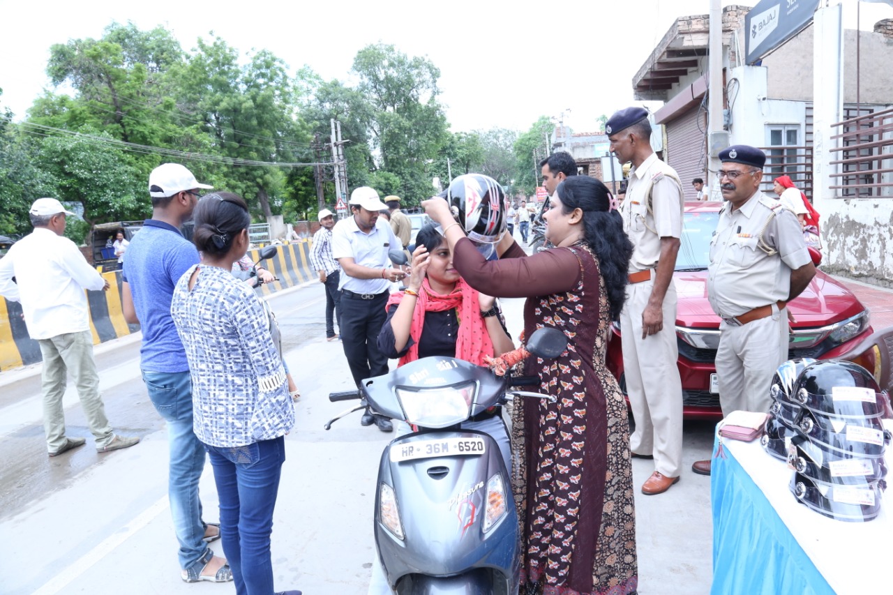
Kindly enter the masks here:
[[[722, 318], [716, 351], [722, 415], [768, 411], [772, 374], [788, 359], [787, 303], [815, 275], [797, 216], [760, 191], [766, 155], [735, 145], [720, 153], [726, 199], [710, 243], [707, 298]], [[710, 461], [692, 471], [710, 474]]]

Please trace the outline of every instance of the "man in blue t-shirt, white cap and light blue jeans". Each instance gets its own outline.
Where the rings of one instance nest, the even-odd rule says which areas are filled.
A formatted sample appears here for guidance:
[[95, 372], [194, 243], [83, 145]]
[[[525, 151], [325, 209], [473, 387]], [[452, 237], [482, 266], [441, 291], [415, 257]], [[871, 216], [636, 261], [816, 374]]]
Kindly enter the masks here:
[[163, 163], [149, 174], [152, 219], [130, 240], [123, 269], [123, 310], [139, 323], [143, 341], [140, 369], [155, 410], [167, 422], [171, 449], [168, 496], [179, 541], [181, 578], [186, 582], [232, 580], [230, 566], [213, 556], [207, 542], [220, 538], [220, 526], [202, 520], [198, 481], [204, 470], [204, 445], [192, 429], [192, 381], [186, 350], [171, 318], [174, 286], [198, 263], [198, 251], [183, 238], [198, 201], [200, 184], [179, 163]]

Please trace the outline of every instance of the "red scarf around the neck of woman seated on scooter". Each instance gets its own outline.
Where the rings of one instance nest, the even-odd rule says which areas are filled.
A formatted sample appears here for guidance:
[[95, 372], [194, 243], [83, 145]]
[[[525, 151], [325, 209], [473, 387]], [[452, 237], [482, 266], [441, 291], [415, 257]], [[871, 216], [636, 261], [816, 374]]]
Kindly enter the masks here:
[[[493, 341], [487, 331], [487, 323], [480, 315], [480, 298], [477, 289], [460, 279], [455, 288], [446, 296], [435, 293], [428, 279], [421, 281], [419, 297], [415, 301], [413, 310], [413, 322], [409, 327], [409, 336], [413, 339], [413, 346], [406, 355], [400, 358], [397, 366], [414, 362], [419, 358], [419, 339], [421, 328], [425, 323], [426, 312], [443, 312], [445, 310], [458, 310], [459, 332], [455, 341], [455, 356], [472, 364], [485, 365], [484, 356], [493, 356]], [[388, 298], [390, 308], [399, 304], [404, 297], [403, 291], [392, 293]]]

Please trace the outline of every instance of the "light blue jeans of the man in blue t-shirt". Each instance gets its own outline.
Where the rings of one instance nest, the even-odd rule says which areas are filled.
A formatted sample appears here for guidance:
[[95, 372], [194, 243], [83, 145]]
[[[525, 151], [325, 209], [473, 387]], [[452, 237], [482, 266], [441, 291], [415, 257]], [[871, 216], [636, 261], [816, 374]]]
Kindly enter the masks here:
[[204, 470], [204, 444], [192, 431], [192, 380], [188, 372], [146, 372], [143, 381], [152, 405], [167, 422], [171, 465], [168, 499], [173, 529], [179, 541], [179, 566], [196, 564], [208, 546], [204, 543], [202, 501], [198, 480]]

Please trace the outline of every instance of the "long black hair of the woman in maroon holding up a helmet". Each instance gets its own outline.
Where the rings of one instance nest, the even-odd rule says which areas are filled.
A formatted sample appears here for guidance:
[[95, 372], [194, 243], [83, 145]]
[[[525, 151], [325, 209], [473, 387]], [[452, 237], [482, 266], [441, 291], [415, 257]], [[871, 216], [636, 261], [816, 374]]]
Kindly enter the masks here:
[[613, 207], [614, 198], [600, 180], [571, 176], [556, 189], [564, 214], [579, 208], [583, 212], [586, 242], [598, 257], [605, 277], [611, 320], [620, 318], [626, 300], [632, 242], [623, 231], [623, 220]]

